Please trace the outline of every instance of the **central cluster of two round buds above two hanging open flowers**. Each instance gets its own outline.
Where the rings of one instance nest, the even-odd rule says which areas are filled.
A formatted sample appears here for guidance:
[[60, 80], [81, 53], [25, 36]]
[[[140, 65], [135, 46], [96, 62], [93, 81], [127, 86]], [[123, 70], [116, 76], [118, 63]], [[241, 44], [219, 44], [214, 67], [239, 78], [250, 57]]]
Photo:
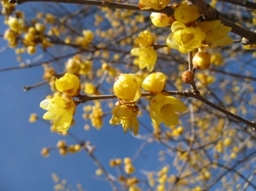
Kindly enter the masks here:
[[121, 74], [113, 85], [113, 92], [119, 101], [113, 108], [110, 124], [122, 124], [124, 132], [127, 128], [135, 135], [139, 131], [137, 115], [139, 107], [135, 102], [141, 97], [140, 87], [149, 93], [156, 94], [150, 102], [150, 116], [155, 124], [163, 122], [166, 127], [179, 124], [177, 112], [186, 110], [186, 106], [179, 99], [163, 92], [166, 88], [167, 77], [162, 72], [153, 72], [144, 80], [136, 74]]

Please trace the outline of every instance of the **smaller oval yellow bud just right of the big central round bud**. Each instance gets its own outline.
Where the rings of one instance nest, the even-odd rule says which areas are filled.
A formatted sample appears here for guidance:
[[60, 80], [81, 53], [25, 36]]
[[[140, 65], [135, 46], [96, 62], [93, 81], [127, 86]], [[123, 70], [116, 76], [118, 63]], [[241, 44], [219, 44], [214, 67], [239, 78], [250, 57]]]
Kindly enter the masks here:
[[166, 88], [166, 75], [162, 72], [149, 74], [142, 83], [142, 88], [150, 93], [161, 93]]

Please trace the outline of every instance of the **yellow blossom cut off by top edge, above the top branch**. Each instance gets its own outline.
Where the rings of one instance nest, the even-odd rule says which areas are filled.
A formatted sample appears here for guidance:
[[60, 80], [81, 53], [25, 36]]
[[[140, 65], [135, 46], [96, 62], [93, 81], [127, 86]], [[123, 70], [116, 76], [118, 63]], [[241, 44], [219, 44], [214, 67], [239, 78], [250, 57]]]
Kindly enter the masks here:
[[170, 0], [139, 0], [141, 10], [155, 9], [161, 10], [169, 4]]

